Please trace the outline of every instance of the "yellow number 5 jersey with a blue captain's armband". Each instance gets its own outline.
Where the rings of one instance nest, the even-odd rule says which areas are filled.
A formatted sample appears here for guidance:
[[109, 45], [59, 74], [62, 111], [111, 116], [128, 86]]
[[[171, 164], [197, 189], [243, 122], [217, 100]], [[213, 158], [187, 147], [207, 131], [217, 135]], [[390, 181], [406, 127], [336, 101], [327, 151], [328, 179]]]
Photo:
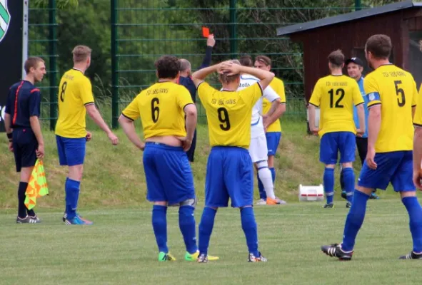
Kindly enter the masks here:
[[418, 90], [411, 73], [386, 64], [366, 76], [363, 88], [368, 96], [368, 109], [381, 105], [381, 128], [376, 152], [413, 150], [412, 107]]

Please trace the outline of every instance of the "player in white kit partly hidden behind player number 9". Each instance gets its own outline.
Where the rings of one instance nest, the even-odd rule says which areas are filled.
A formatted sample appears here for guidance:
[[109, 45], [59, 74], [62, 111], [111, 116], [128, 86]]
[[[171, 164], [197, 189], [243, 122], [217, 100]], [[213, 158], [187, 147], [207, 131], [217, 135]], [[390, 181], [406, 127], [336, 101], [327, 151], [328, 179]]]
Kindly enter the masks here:
[[[259, 81], [258, 78], [242, 74], [238, 90], [247, 88]], [[270, 101], [272, 113], [280, 105], [280, 96], [268, 86], [263, 90], [263, 98]], [[271, 110], [268, 112], [271, 115]], [[252, 162], [256, 165], [259, 179], [262, 181], [263, 187], [267, 195], [267, 204], [281, 204], [281, 200], [274, 195], [273, 178], [271, 171], [268, 169], [268, 150], [266, 144], [265, 130], [263, 129], [262, 118], [262, 99], [258, 100], [252, 109], [251, 120], [251, 145], [249, 146], [249, 155]]]

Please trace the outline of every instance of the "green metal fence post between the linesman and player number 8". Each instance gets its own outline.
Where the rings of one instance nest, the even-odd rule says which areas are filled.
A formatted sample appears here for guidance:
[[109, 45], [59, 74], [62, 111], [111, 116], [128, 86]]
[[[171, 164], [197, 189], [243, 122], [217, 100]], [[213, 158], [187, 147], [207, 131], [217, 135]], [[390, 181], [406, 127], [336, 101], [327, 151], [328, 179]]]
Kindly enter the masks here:
[[56, 0], [49, 0], [49, 69], [50, 69], [50, 130], [56, 128], [57, 118], [57, 22]]

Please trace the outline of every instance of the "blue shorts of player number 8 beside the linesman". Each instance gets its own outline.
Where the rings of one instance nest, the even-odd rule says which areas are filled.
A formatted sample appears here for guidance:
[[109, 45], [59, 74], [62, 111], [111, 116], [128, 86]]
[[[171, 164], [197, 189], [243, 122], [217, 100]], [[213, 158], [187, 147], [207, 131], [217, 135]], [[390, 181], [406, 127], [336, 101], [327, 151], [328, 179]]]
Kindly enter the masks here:
[[85, 160], [86, 138], [63, 138], [56, 135], [60, 165], [83, 165]]

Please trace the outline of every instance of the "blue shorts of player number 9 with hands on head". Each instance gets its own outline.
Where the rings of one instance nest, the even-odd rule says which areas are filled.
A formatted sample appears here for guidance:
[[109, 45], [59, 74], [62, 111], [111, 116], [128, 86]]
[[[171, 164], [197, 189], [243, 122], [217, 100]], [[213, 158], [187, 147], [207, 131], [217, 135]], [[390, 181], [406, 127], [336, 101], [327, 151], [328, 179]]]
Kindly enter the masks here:
[[248, 150], [241, 147], [213, 147], [205, 178], [207, 207], [245, 207], [253, 204], [253, 167]]

